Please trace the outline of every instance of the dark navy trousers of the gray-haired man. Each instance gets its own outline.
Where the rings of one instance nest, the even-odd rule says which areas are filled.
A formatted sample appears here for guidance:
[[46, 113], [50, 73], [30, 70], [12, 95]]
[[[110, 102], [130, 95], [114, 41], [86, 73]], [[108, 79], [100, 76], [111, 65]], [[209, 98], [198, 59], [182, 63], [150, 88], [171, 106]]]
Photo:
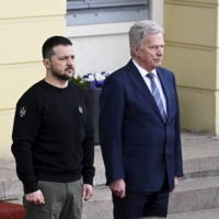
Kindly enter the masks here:
[[135, 193], [126, 191], [124, 198], [113, 194], [114, 219], [166, 218], [169, 196], [170, 189], [165, 182], [158, 192]]

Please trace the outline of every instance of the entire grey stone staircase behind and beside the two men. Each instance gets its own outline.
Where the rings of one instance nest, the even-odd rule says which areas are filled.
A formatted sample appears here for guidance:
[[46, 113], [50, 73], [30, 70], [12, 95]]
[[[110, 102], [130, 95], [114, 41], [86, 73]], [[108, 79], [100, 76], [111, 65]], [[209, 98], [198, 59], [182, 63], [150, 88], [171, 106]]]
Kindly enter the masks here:
[[[171, 193], [170, 219], [219, 218], [219, 137], [182, 132], [184, 177]], [[83, 204], [83, 219], [113, 219], [111, 192], [100, 147], [95, 147], [94, 196]], [[0, 200], [21, 203], [22, 184], [13, 160], [0, 161]]]

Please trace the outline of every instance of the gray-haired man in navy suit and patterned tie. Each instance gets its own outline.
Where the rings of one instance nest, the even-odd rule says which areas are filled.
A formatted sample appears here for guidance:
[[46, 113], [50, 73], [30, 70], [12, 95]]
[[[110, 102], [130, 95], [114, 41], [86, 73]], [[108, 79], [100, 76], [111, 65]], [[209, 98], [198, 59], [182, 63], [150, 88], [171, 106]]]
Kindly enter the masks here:
[[174, 74], [161, 68], [163, 28], [152, 21], [129, 31], [132, 59], [101, 93], [100, 141], [114, 218], [165, 218], [169, 194], [183, 175]]

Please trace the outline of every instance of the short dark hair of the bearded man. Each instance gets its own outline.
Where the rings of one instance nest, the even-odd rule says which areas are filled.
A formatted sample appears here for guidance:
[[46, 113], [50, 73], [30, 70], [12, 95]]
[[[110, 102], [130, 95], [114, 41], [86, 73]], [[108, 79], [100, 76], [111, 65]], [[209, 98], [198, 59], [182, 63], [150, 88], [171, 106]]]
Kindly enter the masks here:
[[51, 36], [47, 38], [42, 47], [43, 58], [50, 58], [55, 54], [53, 48], [58, 45], [68, 46], [72, 45], [72, 43], [64, 36]]

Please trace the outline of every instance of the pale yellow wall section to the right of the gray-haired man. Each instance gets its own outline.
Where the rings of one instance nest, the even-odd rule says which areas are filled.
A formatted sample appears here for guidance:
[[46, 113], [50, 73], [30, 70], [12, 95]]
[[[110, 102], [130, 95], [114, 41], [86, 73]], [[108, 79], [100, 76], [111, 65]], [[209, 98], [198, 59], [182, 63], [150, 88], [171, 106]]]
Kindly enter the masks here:
[[211, 131], [218, 125], [218, 1], [164, 1], [165, 55], [178, 85], [181, 125]]

